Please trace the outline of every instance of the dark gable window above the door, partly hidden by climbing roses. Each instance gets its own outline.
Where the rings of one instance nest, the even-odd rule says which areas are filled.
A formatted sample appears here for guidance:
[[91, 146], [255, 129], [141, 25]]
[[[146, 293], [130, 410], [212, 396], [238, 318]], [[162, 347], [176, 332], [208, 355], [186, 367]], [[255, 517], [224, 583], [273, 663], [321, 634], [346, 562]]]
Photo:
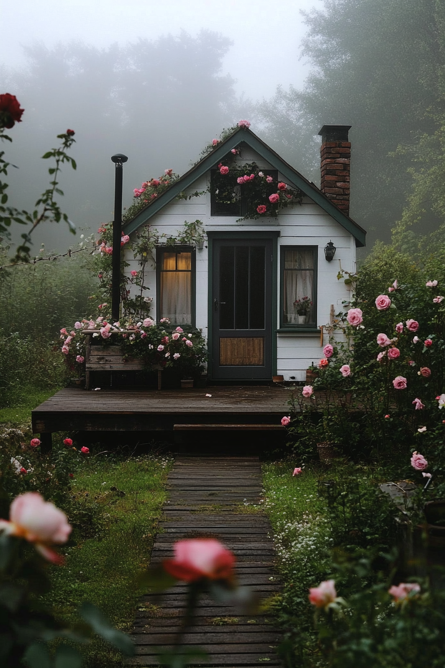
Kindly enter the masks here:
[[[219, 174], [218, 170], [210, 172], [210, 215], [211, 216], [246, 216], [249, 209], [248, 198], [244, 195], [244, 188], [240, 186], [234, 178], [227, 176], [224, 178], [226, 188], [221, 190], [221, 179], [219, 184], [215, 184], [215, 176]], [[278, 181], [278, 170], [263, 170], [266, 176], [272, 176], [274, 183], [268, 186], [266, 184], [266, 196], [276, 192]]]

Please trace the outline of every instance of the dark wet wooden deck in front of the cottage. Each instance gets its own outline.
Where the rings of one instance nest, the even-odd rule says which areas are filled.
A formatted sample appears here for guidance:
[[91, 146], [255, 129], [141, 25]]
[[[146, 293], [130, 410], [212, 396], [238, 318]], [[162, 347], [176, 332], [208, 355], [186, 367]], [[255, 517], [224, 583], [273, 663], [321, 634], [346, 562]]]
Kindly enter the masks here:
[[[211, 394], [207, 397], [206, 394]], [[276, 385], [202, 389], [66, 388], [32, 411], [33, 432], [173, 432], [280, 429], [290, 389]]]

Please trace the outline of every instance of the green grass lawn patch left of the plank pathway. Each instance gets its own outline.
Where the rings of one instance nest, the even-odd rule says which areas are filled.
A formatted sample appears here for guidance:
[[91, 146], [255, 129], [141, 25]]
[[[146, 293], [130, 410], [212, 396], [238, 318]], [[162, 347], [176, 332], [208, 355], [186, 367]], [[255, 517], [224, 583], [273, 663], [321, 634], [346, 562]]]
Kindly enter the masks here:
[[[111, 623], [130, 631], [141, 591], [137, 576], [149, 564], [170, 461], [162, 456], [125, 460], [96, 456], [75, 475], [71, 489], [73, 543], [66, 562], [51, 567], [54, 588], [45, 597], [71, 622], [83, 601], [98, 605]], [[121, 655], [101, 639], [83, 647], [85, 668], [112, 668]]]

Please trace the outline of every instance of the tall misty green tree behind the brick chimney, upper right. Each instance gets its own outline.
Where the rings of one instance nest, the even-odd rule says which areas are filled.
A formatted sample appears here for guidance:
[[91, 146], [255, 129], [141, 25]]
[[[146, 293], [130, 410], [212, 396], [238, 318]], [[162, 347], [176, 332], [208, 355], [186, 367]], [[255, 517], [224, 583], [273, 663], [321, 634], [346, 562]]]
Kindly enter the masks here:
[[261, 109], [277, 150], [312, 167], [317, 181], [307, 158], [314, 135], [325, 123], [352, 125], [351, 215], [370, 230], [368, 244], [390, 238], [410, 186], [410, 156], [390, 153], [437, 127], [426, 110], [440, 104], [441, 7], [440, 0], [324, 0], [305, 14], [302, 56], [312, 71], [304, 90], [278, 89]]

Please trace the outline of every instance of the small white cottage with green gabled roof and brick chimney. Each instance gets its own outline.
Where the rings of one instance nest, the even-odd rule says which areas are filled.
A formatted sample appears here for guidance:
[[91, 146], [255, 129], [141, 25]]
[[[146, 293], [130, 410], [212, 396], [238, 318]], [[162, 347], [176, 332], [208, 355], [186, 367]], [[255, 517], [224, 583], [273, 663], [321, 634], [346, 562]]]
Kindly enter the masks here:
[[[308, 366], [322, 357], [320, 328], [350, 299], [338, 271], [354, 273], [356, 246], [365, 245], [365, 230], [349, 217], [349, 129], [320, 130], [321, 189], [249, 128], [239, 127], [125, 223], [130, 238], [146, 224], [170, 237], [184, 220], [203, 223], [202, 247], [159, 244], [145, 285], [158, 322], [168, 317], [207, 338], [211, 383], [267, 383], [274, 375], [303, 381]], [[267, 202], [256, 219], [246, 218], [242, 182], [230, 201], [215, 187], [220, 174], [231, 168], [240, 174], [253, 162], [254, 178], [269, 180], [272, 200], [274, 192], [290, 193], [289, 206], [271, 214]], [[201, 194], [177, 198], [196, 191]], [[139, 268], [131, 253], [125, 259], [126, 271]]]

